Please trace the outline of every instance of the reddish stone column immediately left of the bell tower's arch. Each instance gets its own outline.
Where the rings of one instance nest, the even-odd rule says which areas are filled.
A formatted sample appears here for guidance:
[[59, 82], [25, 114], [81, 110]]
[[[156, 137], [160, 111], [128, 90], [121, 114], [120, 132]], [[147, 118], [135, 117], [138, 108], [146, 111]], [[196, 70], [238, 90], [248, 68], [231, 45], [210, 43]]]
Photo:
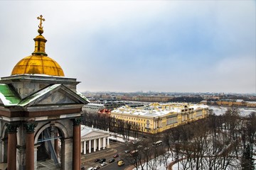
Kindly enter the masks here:
[[26, 129], [26, 170], [33, 170], [35, 165], [34, 160], [34, 129], [36, 123], [25, 123]]

